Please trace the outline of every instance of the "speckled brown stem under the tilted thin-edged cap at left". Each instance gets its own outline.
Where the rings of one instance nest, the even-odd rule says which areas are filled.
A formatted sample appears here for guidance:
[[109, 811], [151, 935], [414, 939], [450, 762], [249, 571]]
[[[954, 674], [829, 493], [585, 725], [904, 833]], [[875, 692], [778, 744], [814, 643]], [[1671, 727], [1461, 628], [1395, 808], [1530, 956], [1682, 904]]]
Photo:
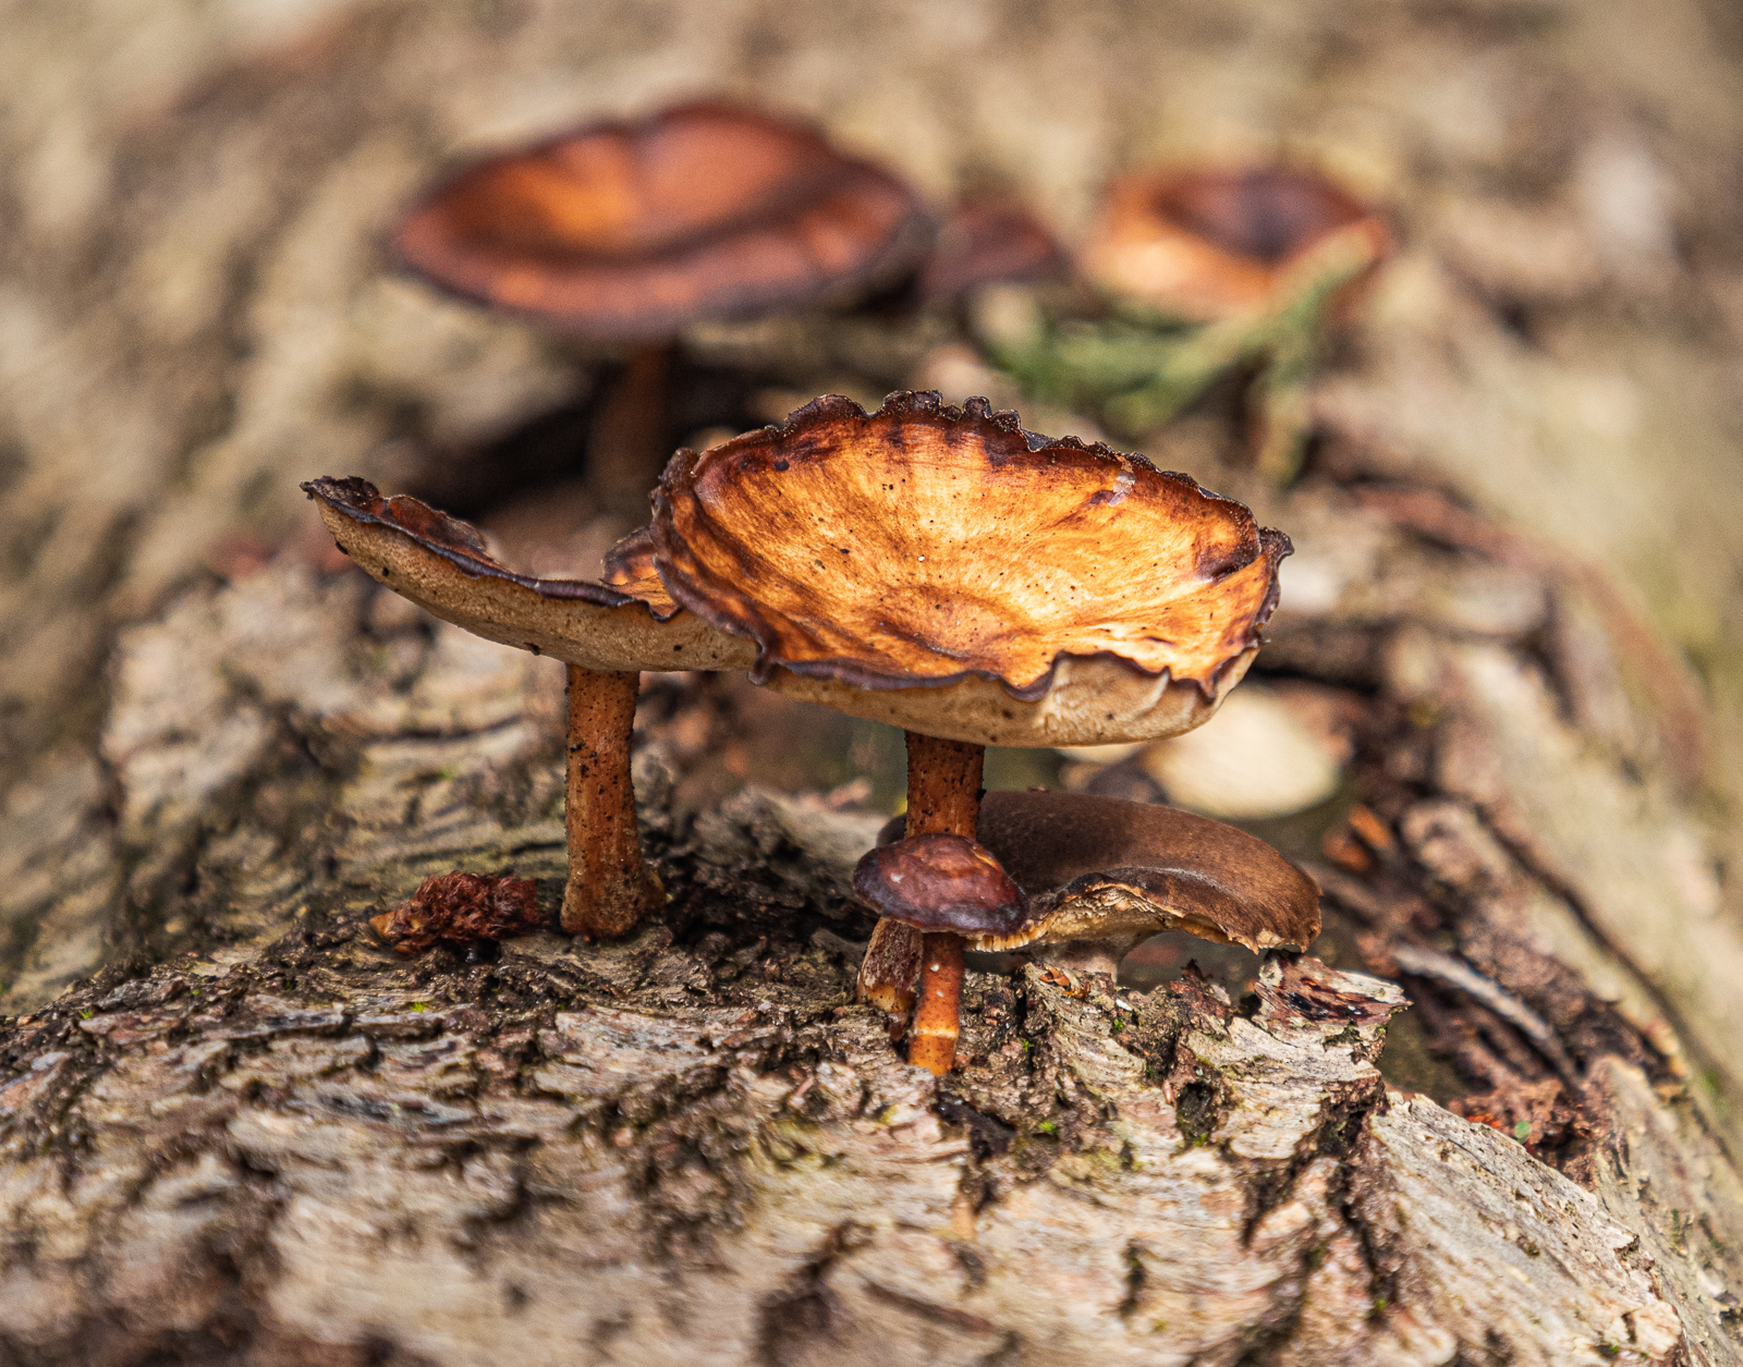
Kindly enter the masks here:
[[629, 783], [629, 736], [641, 677], [568, 666], [568, 888], [563, 929], [626, 935], [666, 900], [641, 858], [636, 793]]

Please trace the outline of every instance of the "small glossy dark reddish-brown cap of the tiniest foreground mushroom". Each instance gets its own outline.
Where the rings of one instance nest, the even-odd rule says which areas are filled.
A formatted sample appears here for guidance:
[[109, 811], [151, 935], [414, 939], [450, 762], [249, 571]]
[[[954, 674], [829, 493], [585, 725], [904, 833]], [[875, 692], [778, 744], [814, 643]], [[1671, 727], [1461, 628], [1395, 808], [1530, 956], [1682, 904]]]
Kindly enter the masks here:
[[919, 931], [1013, 935], [1028, 900], [999, 860], [962, 835], [915, 835], [868, 851], [854, 894], [878, 915]]

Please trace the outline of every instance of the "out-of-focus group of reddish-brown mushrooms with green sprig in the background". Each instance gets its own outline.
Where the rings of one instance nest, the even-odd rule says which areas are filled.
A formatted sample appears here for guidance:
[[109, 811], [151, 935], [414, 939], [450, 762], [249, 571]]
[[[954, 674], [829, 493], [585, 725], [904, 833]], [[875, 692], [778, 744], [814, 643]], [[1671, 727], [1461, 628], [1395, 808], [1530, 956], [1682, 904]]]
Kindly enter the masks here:
[[[891, 171], [809, 127], [692, 103], [469, 166], [401, 218], [390, 246], [448, 293], [622, 349], [587, 476], [601, 507], [640, 521], [671, 453], [687, 328], [870, 296], [966, 309], [1027, 391], [1133, 438], [1246, 368], [1255, 459], [1283, 483], [1321, 342], [1393, 234], [1299, 167], [1138, 171], [1109, 187], [1074, 260], [1007, 197], [966, 199], [939, 221]], [[1091, 317], [1013, 335], [973, 309], [990, 286], [1067, 279], [1067, 314]]]

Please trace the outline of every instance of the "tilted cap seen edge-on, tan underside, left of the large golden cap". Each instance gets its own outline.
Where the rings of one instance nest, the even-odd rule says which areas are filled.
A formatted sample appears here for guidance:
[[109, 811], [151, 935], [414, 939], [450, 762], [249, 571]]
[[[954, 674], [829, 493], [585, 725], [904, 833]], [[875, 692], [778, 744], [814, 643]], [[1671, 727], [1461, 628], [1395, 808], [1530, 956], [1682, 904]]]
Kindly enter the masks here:
[[587, 670], [743, 670], [755, 650], [680, 612], [652, 572], [645, 534], [627, 537], [607, 581], [533, 579], [490, 556], [478, 528], [368, 479], [312, 479], [338, 547], [443, 621]]

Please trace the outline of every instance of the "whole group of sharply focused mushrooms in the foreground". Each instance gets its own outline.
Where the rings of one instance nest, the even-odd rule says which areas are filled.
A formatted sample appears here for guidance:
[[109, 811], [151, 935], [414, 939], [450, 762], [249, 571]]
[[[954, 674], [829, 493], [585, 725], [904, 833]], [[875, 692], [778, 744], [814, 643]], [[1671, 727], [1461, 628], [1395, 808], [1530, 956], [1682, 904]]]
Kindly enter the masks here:
[[641, 670], [746, 670], [906, 731], [905, 830], [854, 877], [882, 917], [859, 990], [898, 1032], [912, 1011], [910, 1062], [933, 1072], [955, 1057], [971, 945], [1107, 971], [1163, 929], [1253, 950], [1318, 933], [1312, 882], [1232, 826], [1072, 793], [983, 802], [988, 745], [1178, 734], [1246, 671], [1288, 539], [1183, 474], [985, 401], [823, 398], [680, 450], [601, 581], [516, 574], [469, 525], [363, 479], [305, 488], [382, 584], [568, 664], [572, 933], [624, 935], [664, 898], [629, 781]]

